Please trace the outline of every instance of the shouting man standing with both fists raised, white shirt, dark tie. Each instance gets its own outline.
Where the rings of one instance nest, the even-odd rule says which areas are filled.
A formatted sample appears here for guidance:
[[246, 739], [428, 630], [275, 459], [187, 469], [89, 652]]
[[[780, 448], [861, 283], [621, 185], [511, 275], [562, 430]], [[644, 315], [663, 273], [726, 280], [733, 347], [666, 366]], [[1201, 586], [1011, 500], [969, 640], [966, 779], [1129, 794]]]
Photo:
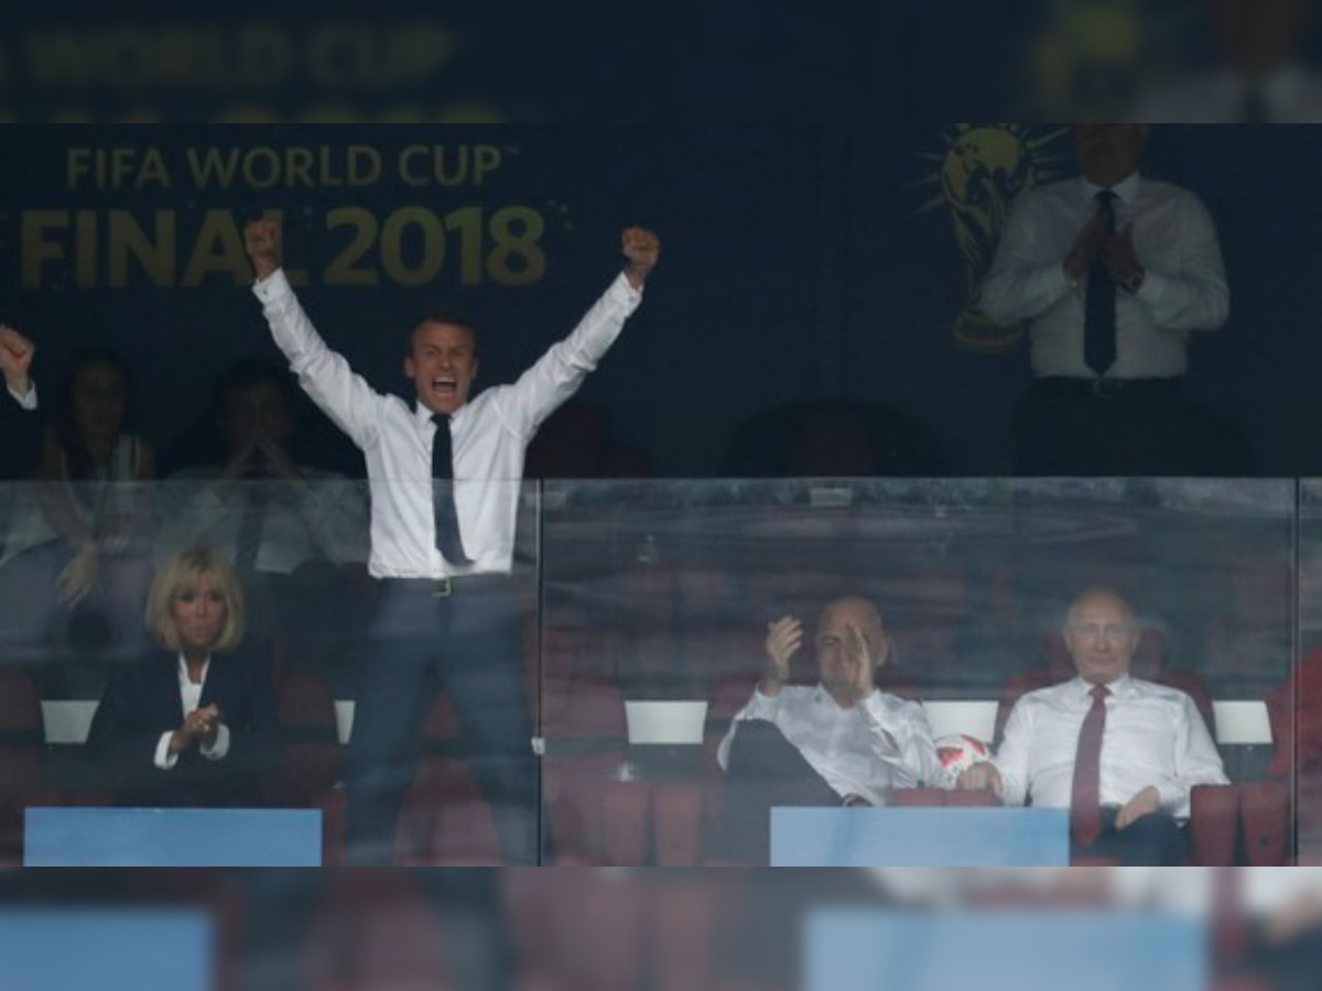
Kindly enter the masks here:
[[407, 340], [415, 400], [382, 395], [332, 351], [280, 268], [280, 229], [245, 231], [276, 345], [308, 395], [362, 449], [371, 494], [369, 571], [379, 583], [374, 647], [349, 744], [349, 860], [389, 864], [412, 780], [422, 686], [435, 670], [460, 720], [469, 766], [506, 864], [538, 851], [538, 781], [510, 581], [524, 456], [538, 425], [592, 371], [642, 300], [661, 247], [624, 231], [625, 268], [572, 334], [512, 386], [469, 402], [477, 336], [452, 313]]

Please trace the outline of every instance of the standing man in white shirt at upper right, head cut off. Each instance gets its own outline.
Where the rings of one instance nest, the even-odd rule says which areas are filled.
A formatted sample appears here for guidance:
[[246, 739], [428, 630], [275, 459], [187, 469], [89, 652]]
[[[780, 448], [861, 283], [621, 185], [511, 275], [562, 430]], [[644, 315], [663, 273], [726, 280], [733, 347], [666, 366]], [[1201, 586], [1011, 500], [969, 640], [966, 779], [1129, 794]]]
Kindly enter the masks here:
[[1027, 476], [1166, 476], [1191, 464], [1188, 338], [1229, 316], [1220, 243], [1192, 193], [1138, 172], [1149, 128], [1075, 124], [1081, 180], [1029, 193], [982, 291], [1027, 321], [1036, 382], [1015, 412]]

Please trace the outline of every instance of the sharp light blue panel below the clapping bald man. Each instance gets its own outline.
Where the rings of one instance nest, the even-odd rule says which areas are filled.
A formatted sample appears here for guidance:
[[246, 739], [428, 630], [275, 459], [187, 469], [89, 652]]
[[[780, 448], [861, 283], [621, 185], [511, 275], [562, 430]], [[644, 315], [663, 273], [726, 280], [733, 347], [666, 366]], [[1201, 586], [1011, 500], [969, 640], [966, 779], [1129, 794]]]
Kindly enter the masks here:
[[772, 867], [1068, 867], [1064, 809], [773, 809]]

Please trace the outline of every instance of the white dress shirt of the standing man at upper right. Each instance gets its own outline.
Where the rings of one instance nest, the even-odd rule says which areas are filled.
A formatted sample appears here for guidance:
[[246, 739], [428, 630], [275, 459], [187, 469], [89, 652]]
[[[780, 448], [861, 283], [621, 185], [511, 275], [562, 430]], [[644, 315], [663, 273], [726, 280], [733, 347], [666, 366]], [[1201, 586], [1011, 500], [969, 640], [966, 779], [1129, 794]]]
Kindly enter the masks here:
[[[1096, 378], [1084, 361], [1088, 279], [1072, 283], [1064, 260], [1096, 215], [1099, 192], [1087, 180], [1066, 180], [1025, 196], [982, 287], [982, 312], [992, 320], [1029, 321], [1038, 377]], [[1192, 193], [1138, 173], [1112, 192], [1116, 230], [1133, 225], [1134, 251], [1147, 275], [1138, 292], [1116, 293], [1116, 363], [1107, 377], [1183, 375], [1190, 332], [1218, 330], [1229, 316], [1212, 218]]]

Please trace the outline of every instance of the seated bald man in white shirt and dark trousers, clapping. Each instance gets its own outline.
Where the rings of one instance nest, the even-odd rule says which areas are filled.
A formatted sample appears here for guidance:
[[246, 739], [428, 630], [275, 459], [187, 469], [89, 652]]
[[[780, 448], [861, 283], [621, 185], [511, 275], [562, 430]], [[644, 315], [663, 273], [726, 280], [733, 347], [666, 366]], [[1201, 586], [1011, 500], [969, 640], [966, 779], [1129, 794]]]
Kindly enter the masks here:
[[941, 780], [923, 708], [876, 688], [876, 669], [891, 655], [876, 609], [847, 597], [822, 610], [812, 688], [787, 684], [802, 641], [798, 620], [771, 624], [761, 683], [720, 744], [732, 860], [769, 858], [776, 806], [883, 805], [891, 789]]

